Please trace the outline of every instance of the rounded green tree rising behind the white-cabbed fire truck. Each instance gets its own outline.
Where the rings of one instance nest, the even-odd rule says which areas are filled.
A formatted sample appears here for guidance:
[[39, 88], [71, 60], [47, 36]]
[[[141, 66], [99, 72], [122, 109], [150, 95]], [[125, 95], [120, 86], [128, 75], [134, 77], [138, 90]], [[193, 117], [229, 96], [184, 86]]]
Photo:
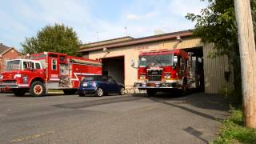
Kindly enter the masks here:
[[77, 55], [81, 42], [71, 27], [55, 24], [43, 27], [35, 37], [26, 38], [21, 45], [23, 54], [52, 51]]

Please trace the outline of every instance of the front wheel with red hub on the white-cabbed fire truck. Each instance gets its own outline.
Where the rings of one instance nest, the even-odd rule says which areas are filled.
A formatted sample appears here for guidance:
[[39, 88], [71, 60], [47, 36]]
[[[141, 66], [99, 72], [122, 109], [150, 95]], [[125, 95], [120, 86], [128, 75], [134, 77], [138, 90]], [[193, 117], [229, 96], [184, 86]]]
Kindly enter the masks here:
[[30, 87], [30, 94], [34, 97], [42, 97], [46, 94], [46, 86], [42, 82], [35, 81]]

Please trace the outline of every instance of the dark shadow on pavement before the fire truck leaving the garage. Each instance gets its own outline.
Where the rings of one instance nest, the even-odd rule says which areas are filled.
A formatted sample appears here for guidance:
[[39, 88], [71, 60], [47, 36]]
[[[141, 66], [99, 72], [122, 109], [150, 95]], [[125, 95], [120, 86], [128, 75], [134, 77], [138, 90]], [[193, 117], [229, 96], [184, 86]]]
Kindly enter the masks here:
[[[187, 96], [171, 95], [171, 94], [157, 94], [154, 97], [149, 97], [154, 102], [160, 102], [167, 106], [174, 106], [182, 110], [186, 110], [192, 114], [197, 114], [203, 118], [208, 118], [214, 121], [222, 121], [223, 118], [217, 118], [211, 114], [191, 109], [190, 106], [201, 109], [228, 111], [229, 106], [226, 100], [218, 94], [190, 94]], [[202, 110], [203, 111], [203, 110]]]

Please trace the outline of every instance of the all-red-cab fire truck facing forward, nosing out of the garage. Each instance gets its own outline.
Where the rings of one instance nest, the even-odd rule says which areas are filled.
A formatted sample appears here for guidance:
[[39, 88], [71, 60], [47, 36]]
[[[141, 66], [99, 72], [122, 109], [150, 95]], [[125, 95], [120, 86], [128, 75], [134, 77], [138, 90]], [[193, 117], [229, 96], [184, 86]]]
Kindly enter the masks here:
[[[158, 91], [179, 90], [186, 94], [190, 88], [200, 86], [200, 74], [192, 68], [192, 58], [184, 50], [152, 50], [140, 52], [138, 61], [139, 90], [149, 96]], [[194, 62], [195, 67], [195, 62]]]

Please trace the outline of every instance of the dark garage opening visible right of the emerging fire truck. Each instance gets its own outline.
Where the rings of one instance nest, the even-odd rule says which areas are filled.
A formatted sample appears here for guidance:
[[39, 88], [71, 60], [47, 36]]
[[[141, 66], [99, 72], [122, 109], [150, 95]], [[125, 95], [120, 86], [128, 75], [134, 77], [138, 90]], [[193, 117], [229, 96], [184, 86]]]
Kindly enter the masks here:
[[199, 79], [199, 90], [205, 91], [205, 80], [204, 80], [204, 70], [203, 70], [203, 51], [202, 47], [183, 49], [188, 53], [192, 54], [192, 74], [197, 74], [196, 78]]

